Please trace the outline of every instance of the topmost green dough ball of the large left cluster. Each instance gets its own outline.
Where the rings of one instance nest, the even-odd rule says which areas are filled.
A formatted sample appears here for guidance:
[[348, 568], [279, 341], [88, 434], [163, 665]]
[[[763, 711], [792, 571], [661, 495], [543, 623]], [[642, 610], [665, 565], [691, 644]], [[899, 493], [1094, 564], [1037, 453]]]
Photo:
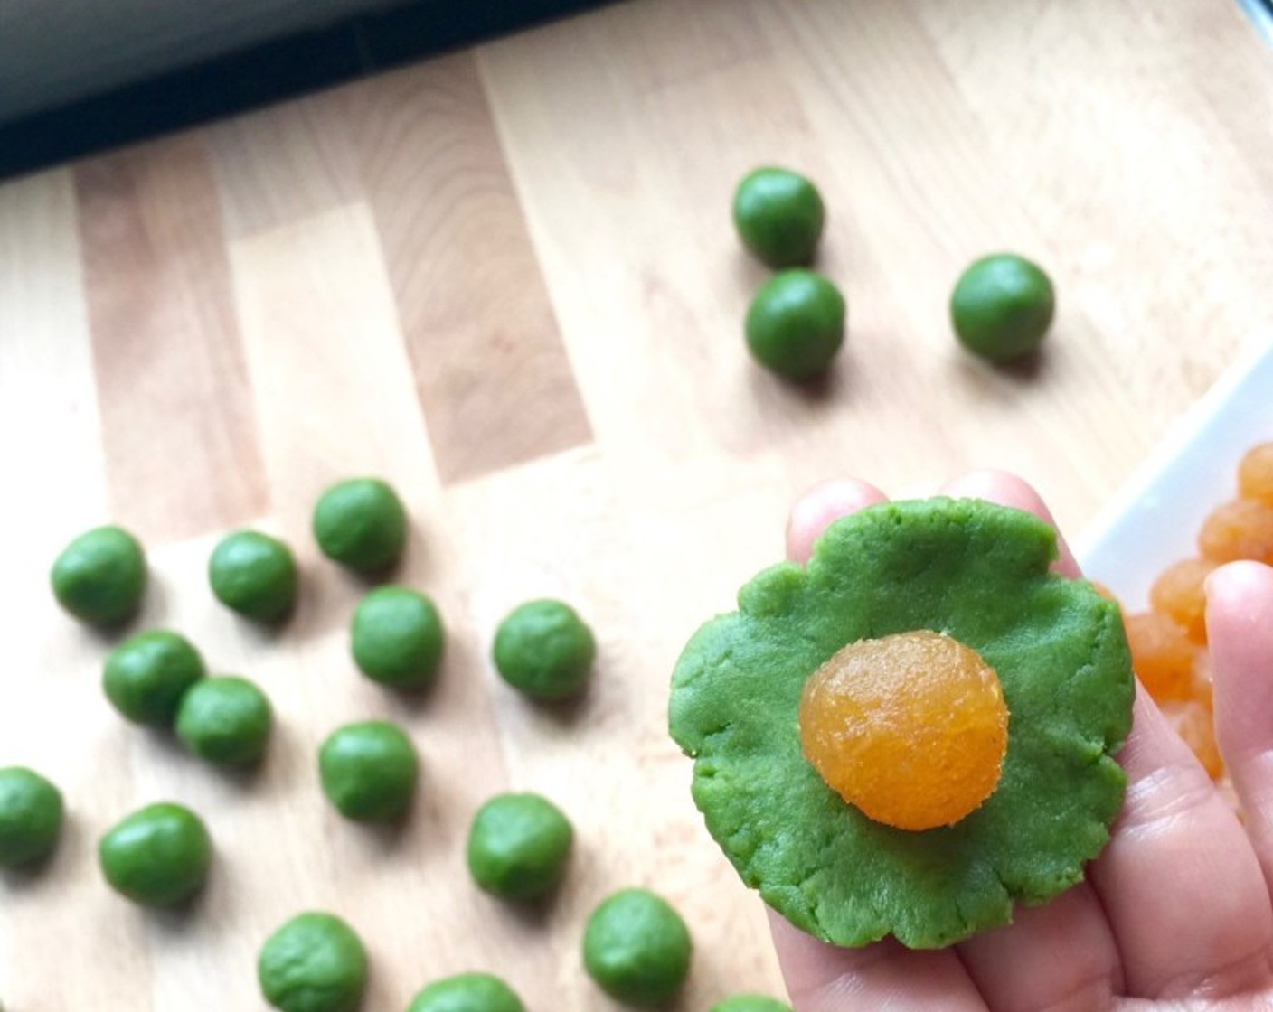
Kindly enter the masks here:
[[320, 496], [313, 530], [328, 559], [358, 573], [382, 573], [402, 556], [406, 510], [379, 479], [349, 479]]

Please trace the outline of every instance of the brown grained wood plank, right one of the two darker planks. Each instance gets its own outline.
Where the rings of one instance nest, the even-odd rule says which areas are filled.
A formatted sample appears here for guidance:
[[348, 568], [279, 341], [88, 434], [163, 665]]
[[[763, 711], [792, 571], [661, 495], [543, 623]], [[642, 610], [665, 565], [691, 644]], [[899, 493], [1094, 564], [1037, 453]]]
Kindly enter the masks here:
[[443, 481], [591, 438], [471, 53], [362, 85], [358, 150]]

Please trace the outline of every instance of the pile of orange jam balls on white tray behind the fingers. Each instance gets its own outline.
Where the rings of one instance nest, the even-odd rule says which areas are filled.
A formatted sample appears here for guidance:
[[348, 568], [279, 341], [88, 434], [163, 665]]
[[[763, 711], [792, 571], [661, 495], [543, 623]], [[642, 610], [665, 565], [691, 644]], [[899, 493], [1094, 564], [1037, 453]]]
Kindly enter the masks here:
[[1141, 684], [1217, 780], [1225, 766], [1212, 726], [1204, 582], [1216, 566], [1237, 559], [1273, 565], [1273, 443], [1242, 457], [1237, 498], [1203, 521], [1198, 555], [1167, 566], [1150, 588], [1150, 610], [1125, 616]]

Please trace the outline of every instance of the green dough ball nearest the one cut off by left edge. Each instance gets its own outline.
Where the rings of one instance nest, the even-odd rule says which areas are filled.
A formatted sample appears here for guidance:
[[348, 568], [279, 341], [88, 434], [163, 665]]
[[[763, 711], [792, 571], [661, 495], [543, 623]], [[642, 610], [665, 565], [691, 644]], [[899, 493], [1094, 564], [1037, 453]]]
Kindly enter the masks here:
[[213, 841], [197, 815], [160, 802], [130, 815], [97, 849], [106, 881], [143, 906], [173, 906], [199, 892]]

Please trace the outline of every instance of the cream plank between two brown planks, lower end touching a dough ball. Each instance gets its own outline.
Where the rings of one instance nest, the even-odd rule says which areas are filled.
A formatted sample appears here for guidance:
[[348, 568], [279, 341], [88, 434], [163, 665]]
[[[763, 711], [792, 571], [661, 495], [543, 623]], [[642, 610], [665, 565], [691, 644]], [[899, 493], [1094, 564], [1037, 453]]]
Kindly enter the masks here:
[[275, 516], [308, 536], [331, 481], [383, 472], [419, 507], [438, 479], [365, 205], [230, 243], [234, 302]]

